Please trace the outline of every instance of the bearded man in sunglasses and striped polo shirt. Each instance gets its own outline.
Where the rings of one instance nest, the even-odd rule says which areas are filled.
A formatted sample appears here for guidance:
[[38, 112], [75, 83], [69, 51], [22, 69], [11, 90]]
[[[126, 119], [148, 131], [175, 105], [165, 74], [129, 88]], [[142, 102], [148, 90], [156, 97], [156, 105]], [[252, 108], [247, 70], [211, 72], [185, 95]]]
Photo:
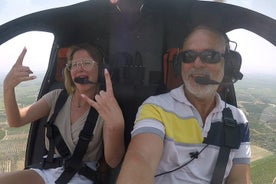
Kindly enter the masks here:
[[[229, 41], [210, 27], [196, 27], [179, 53], [184, 85], [148, 98], [139, 108], [132, 140], [117, 184], [210, 183], [219, 153], [222, 110], [218, 85], [198, 84], [196, 77], [221, 82]], [[241, 135], [231, 149], [223, 183], [249, 183], [250, 145], [247, 119], [229, 104]], [[220, 128], [219, 128], [220, 127]]]

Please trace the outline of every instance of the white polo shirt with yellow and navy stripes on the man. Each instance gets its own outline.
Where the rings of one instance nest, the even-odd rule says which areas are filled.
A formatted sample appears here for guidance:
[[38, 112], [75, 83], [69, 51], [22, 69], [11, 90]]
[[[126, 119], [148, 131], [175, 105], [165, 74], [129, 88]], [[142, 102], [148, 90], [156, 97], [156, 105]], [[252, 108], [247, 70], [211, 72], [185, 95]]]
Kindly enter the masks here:
[[[156, 175], [187, 163], [181, 169], [155, 177], [155, 183], [210, 183], [222, 142], [222, 110], [225, 105], [232, 110], [238, 123], [240, 145], [231, 149], [224, 181], [233, 164], [250, 163], [249, 127], [244, 113], [225, 104], [219, 94], [216, 94], [216, 107], [203, 126], [198, 111], [185, 97], [183, 86], [145, 100], [136, 115], [132, 137], [141, 133], [153, 133], [163, 139], [163, 154]], [[200, 154], [191, 161], [190, 153], [196, 151]]]

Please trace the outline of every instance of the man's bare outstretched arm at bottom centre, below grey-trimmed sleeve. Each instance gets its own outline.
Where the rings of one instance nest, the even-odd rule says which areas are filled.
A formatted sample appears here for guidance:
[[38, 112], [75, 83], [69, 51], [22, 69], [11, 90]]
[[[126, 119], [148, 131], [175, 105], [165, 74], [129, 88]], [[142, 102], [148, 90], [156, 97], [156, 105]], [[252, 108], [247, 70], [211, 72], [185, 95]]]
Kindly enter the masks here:
[[156, 134], [134, 136], [129, 144], [117, 184], [152, 184], [163, 152], [163, 140]]

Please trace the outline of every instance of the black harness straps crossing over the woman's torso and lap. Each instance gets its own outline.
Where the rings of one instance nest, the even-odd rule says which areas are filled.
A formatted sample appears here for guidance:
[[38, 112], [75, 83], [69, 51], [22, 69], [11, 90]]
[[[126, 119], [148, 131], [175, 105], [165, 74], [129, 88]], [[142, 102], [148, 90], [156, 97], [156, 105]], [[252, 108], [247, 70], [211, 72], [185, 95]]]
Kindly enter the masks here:
[[[78, 172], [80, 175], [86, 178], [96, 181], [97, 172], [82, 163], [84, 154], [86, 153], [88, 144], [93, 138], [93, 131], [96, 126], [98, 112], [90, 108], [88, 116], [86, 118], [83, 129], [79, 134], [79, 140], [76, 148], [71, 156], [70, 150], [68, 149], [64, 139], [62, 138], [59, 129], [54, 125], [55, 119], [66, 102], [68, 94], [66, 90], [62, 90], [56, 101], [53, 115], [45, 125], [47, 128], [46, 136], [49, 139], [49, 150], [46, 158], [42, 158], [40, 167], [43, 169], [64, 167], [64, 172], [56, 180], [57, 184], [66, 184], [72, 177]], [[55, 148], [61, 155], [61, 158], [55, 158]]]

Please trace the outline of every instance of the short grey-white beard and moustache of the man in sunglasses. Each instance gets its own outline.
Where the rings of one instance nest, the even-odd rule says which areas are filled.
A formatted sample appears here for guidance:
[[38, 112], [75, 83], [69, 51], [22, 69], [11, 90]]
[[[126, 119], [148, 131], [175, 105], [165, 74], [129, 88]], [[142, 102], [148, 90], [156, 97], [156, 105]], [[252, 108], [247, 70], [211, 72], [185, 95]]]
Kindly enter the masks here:
[[[194, 78], [191, 78], [189, 76], [191, 75], [203, 75], [203, 76], [210, 76], [209, 72], [203, 71], [203, 70], [190, 70], [187, 74], [185, 74], [185, 77], [183, 79], [186, 90], [193, 94], [195, 97], [199, 99], [205, 99], [209, 97], [213, 97], [218, 89], [218, 85], [201, 85], [194, 81]], [[215, 77], [215, 81], [220, 82], [223, 78], [223, 71], [218, 74], [218, 76]]]

